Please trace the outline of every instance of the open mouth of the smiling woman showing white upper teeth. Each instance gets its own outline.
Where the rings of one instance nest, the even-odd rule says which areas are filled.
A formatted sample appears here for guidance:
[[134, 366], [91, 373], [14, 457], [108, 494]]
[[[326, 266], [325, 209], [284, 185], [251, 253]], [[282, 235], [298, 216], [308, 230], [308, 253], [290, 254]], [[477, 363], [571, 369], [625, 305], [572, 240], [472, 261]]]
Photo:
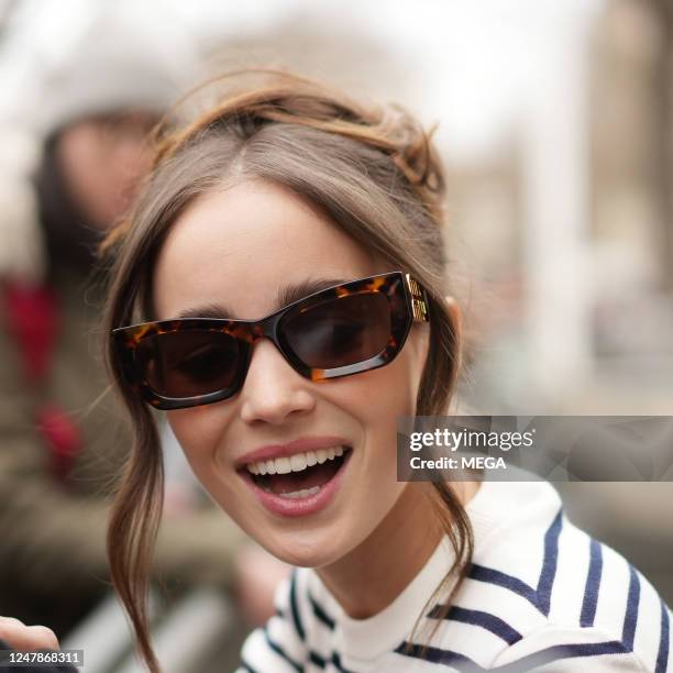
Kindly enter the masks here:
[[288, 499], [309, 498], [331, 482], [351, 453], [350, 446], [331, 446], [286, 457], [247, 463], [245, 470], [266, 493]]

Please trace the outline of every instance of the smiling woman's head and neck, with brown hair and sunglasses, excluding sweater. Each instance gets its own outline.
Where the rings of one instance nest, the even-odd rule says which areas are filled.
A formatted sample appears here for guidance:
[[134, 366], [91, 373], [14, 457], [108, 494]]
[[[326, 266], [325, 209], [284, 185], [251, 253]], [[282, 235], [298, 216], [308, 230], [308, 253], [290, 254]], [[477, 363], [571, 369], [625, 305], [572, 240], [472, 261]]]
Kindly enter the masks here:
[[443, 412], [459, 368], [434, 152], [399, 109], [256, 77], [163, 140], [111, 238], [110, 364], [137, 446], [110, 549], [148, 655], [133, 542], [152, 537], [161, 465], [143, 399], [213, 499], [279, 559], [329, 569], [352, 615], [389, 605], [444, 534], [438, 583], [471, 553], [474, 488], [396, 481], [396, 417]]

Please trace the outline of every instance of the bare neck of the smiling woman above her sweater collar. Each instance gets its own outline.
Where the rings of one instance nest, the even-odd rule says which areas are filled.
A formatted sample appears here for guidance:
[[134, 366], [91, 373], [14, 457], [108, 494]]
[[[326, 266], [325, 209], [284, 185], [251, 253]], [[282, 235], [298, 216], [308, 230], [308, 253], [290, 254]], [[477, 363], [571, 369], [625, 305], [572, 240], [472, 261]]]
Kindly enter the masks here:
[[[463, 505], [478, 489], [456, 483]], [[366, 619], [385, 609], [409, 585], [440, 543], [444, 530], [428, 492], [429, 483], [408, 483], [376, 530], [335, 563], [318, 570], [346, 615]]]

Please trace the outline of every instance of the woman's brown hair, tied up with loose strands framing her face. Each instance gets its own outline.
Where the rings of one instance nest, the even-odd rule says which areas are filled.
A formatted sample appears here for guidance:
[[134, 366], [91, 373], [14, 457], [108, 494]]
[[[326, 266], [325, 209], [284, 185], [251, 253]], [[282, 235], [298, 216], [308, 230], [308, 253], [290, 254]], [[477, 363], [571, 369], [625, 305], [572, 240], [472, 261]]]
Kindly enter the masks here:
[[[261, 80], [251, 84], [251, 78]], [[444, 300], [444, 179], [429, 134], [398, 107], [365, 106], [295, 75], [255, 70], [224, 80], [236, 90], [230, 89], [196, 121], [157, 131], [153, 170], [133, 211], [103, 244], [113, 253], [106, 333], [153, 318], [154, 262], [190, 201], [230, 181], [269, 180], [310, 199], [363, 246], [422, 283], [431, 324], [416, 413], [445, 413], [461, 347]], [[139, 651], [154, 673], [159, 669], [150, 640], [146, 596], [162, 511], [162, 453], [154, 412], [124, 382], [110, 342], [106, 355], [135, 432], [112, 508], [108, 553]], [[454, 573], [459, 580], [453, 591], [460, 585], [472, 559], [473, 538], [451, 486], [432, 486], [429, 495], [438, 521], [455, 552], [437, 595]]]

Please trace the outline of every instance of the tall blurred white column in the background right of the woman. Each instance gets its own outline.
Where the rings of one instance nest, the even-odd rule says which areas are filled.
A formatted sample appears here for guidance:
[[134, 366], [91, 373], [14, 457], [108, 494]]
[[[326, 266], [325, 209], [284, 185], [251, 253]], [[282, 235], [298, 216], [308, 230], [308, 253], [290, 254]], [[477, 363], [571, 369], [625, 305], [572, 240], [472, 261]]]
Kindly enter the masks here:
[[[560, 21], [541, 54], [522, 137], [523, 269], [531, 412], [554, 412], [591, 374], [587, 268], [588, 29], [592, 13]], [[541, 64], [542, 65], [542, 64]], [[581, 412], [581, 410], [577, 410]]]

